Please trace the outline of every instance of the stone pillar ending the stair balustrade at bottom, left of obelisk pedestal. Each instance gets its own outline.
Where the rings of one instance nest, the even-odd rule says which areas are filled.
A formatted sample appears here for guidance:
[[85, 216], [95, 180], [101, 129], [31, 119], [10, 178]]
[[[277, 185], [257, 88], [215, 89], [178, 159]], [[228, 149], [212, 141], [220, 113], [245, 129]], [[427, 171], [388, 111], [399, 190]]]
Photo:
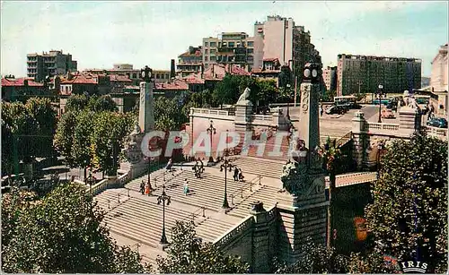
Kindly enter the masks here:
[[251, 207], [254, 216], [252, 231], [252, 273], [269, 272], [269, 217], [262, 202], [255, 202]]

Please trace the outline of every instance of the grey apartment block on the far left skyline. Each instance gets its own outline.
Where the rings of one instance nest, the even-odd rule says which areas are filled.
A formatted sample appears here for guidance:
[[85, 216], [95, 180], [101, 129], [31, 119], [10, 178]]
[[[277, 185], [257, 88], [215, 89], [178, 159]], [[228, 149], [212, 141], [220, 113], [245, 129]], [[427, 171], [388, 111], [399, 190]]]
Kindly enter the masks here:
[[34, 78], [36, 82], [41, 82], [46, 76], [55, 76], [75, 72], [77, 63], [72, 60], [72, 55], [62, 53], [62, 50], [50, 50], [48, 53], [27, 55], [28, 77]]

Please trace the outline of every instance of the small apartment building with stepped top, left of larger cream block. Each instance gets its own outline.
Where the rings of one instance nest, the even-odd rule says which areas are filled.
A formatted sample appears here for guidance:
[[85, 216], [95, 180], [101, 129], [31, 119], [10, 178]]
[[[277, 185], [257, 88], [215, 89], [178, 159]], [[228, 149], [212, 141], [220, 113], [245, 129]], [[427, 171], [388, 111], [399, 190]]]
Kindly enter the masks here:
[[203, 64], [202, 47], [189, 47], [189, 50], [178, 56], [178, 64], [176, 64], [176, 73], [180, 77], [185, 77], [190, 73], [201, 72]]

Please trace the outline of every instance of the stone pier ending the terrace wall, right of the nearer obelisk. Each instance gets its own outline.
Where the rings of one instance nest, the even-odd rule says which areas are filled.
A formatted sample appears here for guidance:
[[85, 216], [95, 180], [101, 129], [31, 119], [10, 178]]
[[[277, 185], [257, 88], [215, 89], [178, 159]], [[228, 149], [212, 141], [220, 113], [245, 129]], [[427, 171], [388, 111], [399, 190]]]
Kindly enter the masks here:
[[354, 159], [357, 163], [357, 169], [362, 170], [368, 166], [368, 152], [370, 139], [366, 132], [367, 122], [365, 114], [357, 111], [352, 119], [352, 138], [354, 141]]

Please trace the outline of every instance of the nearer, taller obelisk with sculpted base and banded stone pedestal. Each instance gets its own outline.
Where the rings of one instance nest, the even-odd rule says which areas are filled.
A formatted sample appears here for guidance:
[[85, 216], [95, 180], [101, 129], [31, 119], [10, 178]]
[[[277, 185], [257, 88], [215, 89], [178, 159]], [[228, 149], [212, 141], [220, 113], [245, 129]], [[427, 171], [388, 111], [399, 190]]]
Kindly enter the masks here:
[[304, 66], [301, 84], [299, 127], [292, 157], [284, 166], [283, 192], [277, 195], [277, 208], [285, 234], [279, 236], [280, 258], [295, 262], [302, 255], [299, 245], [307, 236], [317, 244], [326, 241], [326, 202], [324, 171], [319, 154], [321, 65]]

